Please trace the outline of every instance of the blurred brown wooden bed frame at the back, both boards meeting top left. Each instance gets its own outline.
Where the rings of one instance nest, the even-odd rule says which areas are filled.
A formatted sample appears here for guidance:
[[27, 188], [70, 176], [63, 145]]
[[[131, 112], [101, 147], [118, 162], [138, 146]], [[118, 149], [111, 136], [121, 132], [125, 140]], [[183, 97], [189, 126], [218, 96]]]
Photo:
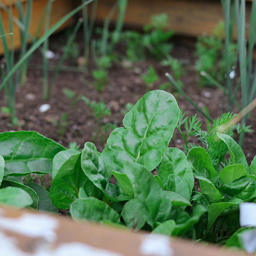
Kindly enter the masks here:
[[[13, 13], [18, 16], [13, 0]], [[27, 0], [21, 0], [27, 2]], [[111, 7], [117, 0], [99, 0], [96, 21], [103, 22], [106, 19]], [[247, 18], [249, 20], [250, 5], [252, 0], [246, 0]], [[0, 0], [8, 6], [10, 0]], [[34, 36], [39, 26], [39, 20], [48, 0], [33, 0], [33, 11], [31, 18], [30, 34]], [[80, 2], [74, 0], [55, 0], [52, 5], [50, 26], [60, 20], [65, 14], [74, 9]], [[91, 5], [89, 5], [90, 7]], [[8, 14], [0, 10], [6, 33], [9, 32]], [[150, 16], [166, 13], [169, 17], [168, 29], [176, 34], [186, 37], [198, 37], [203, 33], [212, 34], [213, 29], [220, 20], [224, 20], [220, 0], [129, 0], [126, 9], [124, 24], [128, 28], [142, 28], [149, 24]], [[115, 15], [112, 21], [117, 19]], [[75, 18], [69, 19], [60, 29], [73, 25]], [[60, 30], [59, 29], [59, 30]], [[248, 29], [249, 31], [249, 29]], [[41, 33], [42, 34], [42, 33]], [[7, 37], [7, 40], [10, 39]], [[14, 47], [20, 46], [18, 26], [14, 26]], [[3, 45], [0, 40], [0, 54], [3, 54]]]

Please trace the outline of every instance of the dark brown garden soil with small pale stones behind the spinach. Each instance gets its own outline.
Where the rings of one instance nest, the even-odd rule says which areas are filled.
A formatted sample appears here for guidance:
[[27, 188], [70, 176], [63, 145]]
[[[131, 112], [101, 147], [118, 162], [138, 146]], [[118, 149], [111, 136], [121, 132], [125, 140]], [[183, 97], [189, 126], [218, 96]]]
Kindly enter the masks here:
[[[50, 50], [55, 53], [60, 53], [62, 46], [65, 43], [65, 34], [59, 33], [53, 36], [50, 40]], [[193, 101], [203, 108], [206, 106], [212, 118], [219, 117], [222, 114], [222, 92], [215, 87], [198, 86], [198, 75], [194, 68], [195, 56], [193, 44], [186, 44], [184, 41], [176, 40], [171, 55], [184, 64], [184, 75], [182, 82], [184, 91], [193, 99]], [[82, 33], [78, 44], [83, 46]], [[120, 55], [120, 54], [119, 54]], [[51, 65], [56, 65], [58, 60], [51, 60]], [[122, 126], [124, 117], [124, 108], [126, 103], [136, 103], [146, 93], [146, 85], [141, 79], [141, 75], [147, 72], [149, 65], [153, 65], [159, 76], [158, 82], [154, 84], [152, 89], [159, 89], [161, 84], [168, 82], [165, 73], [169, 72], [168, 67], [161, 66], [159, 62], [147, 60], [135, 64], [126, 60], [119, 60], [109, 69], [108, 84], [104, 87], [103, 92], [97, 92], [94, 87], [94, 79], [91, 76], [92, 68], [95, 68], [94, 63], [90, 63], [87, 74], [83, 72], [61, 71], [52, 88], [50, 100], [45, 102], [42, 95], [42, 55], [37, 51], [31, 61], [28, 71], [26, 85], [17, 89], [16, 109], [17, 117], [24, 125], [20, 127], [10, 127], [10, 119], [7, 114], [0, 112], [0, 132], [10, 130], [27, 130], [37, 131], [46, 137], [53, 139], [68, 147], [69, 143], [76, 142], [83, 148], [85, 142], [92, 141], [92, 132], [95, 131], [94, 121], [91, 119], [86, 103], [79, 100], [74, 108], [71, 107], [71, 101], [63, 93], [63, 88], [68, 88], [75, 91], [76, 96], [83, 95], [91, 100], [99, 102], [103, 100], [111, 109], [112, 115], [102, 120], [103, 122], [111, 122]], [[68, 60], [65, 65], [76, 65], [76, 61]], [[52, 73], [50, 72], [51, 76]], [[168, 88], [167, 90], [170, 89]], [[171, 91], [176, 97], [178, 105], [188, 115], [197, 113], [195, 108], [187, 102], [183, 96], [178, 95], [174, 90]], [[43, 103], [49, 103], [51, 108], [44, 112], [39, 112], [39, 107]], [[0, 94], [0, 107], [6, 106], [4, 92]], [[235, 110], [236, 111], [236, 110]], [[65, 128], [64, 135], [60, 135], [61, 117], [67, 113], [68, 125]], [[205, 127], [205, 118], [200, 113], [197, 116], [202, 120]], [[252, 125], [256, 121], [256, 112], [253, 111], [248, 124]], [[59, 126], [56, 125], [59, 122]], [[65, 126], [65, 125], [64, 125]], [[111, 131], [109, 131], [110, 134]], [[109, 135], [108, 134], [108, 135]], [[107, 136], [108, 137], [108, 136]], [[245, 145], [243, 147], [248, 161], [251, 161], [256, 155], [256, 131], [246, 135]], [[182, 148], [182, 139], [176, 130], [171, 140], [170, 146]], [[101, 152], [106, 144], [100, 143], [98, 138], [95, 145]]]

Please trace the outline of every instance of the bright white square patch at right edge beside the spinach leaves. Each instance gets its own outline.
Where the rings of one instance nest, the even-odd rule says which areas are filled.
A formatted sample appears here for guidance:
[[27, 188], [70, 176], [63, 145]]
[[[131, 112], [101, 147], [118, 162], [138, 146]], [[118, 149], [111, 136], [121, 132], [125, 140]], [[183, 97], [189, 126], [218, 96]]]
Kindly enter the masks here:
[[256, 227], [256, 203], [241, 203], [240, 208], [240, 226]]

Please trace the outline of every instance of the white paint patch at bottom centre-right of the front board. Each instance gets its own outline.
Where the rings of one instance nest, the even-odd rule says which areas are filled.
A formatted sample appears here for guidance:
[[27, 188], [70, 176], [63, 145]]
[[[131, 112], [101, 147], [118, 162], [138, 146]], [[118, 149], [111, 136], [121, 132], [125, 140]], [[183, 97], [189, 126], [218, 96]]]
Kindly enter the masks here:
[[139, 252], [150, 256], [171, 256], [173, 254], [170, 238], [156, 234], [143, 236]]

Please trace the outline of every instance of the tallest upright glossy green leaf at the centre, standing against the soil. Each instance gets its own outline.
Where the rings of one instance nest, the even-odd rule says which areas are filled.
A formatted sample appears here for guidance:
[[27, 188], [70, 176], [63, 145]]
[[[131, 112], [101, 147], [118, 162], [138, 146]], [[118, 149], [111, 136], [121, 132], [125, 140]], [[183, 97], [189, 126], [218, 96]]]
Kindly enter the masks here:
[[102, 158], [122, 172], [125, 161], [138, 162], [152, 171], [160, 163], [179, 120], [179, 108], [168, 92], [145, 94], [128, 112], [124, 127], [108, 138]]

